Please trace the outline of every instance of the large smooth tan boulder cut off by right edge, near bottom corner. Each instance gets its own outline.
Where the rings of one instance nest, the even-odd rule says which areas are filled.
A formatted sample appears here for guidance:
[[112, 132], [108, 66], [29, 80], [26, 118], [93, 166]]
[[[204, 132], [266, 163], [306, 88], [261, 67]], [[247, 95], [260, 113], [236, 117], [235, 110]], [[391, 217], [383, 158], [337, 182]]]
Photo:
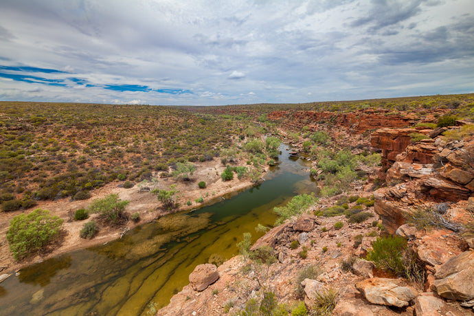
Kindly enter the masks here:
[[474, 251], [464, 251], [436, 271], [433, 282], [438, 295], [449, 300], [472, 300], [474, 298]]

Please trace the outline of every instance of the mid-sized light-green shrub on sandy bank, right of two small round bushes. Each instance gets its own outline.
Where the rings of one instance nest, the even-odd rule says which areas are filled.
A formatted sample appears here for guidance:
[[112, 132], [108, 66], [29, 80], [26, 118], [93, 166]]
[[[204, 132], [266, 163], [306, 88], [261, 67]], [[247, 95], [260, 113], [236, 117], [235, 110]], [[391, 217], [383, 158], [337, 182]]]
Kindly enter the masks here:
[[121, 201], [118, 194], [109, 194], [104, 199], [96, 199], [92, 202], [87, 211], [89, 213], [100, 213], [100, 218], [109, 224], [118, 224], [125, 221], [125, 206], [129, 201]]

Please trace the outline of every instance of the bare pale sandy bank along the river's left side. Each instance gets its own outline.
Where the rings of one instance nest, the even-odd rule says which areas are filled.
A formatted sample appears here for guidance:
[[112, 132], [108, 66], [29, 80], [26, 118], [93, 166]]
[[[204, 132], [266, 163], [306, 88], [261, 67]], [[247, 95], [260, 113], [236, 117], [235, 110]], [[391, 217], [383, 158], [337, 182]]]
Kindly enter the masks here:
[[[239, 161], [239, 165], [243, 165], [245, 161]], [[219, 198], [225, 198], [229, 194], [236, 194], [242, 190], [252, 187], [255, 183], [249, 179], [242, 179], [240, 181], [234, 177], [231, 181], [223, 181], [221, 179], [221, 172], [225, 170], [225, 166], [218, 160], [197, 162], [196, 171], [191, 177], [191, 181], [175, 181], [172, 178], [159, 179], [155, 183], [159, 189], [168, 189], [170, 185], [176, 184], [177, 203], [179, 207], [173, 210], [163, 209], [161, 203], [157, 201], [157, 196], [146, 190], [142, 190], [139, 184], [133, 188], [121, 188], [122, 181], [114, 181], [104, 185], [104, 187], [91, 192], [91, 198], [83, 201], [70, 201], [69, 199], [60, 199], [58, 201], [38, 201], [36, 207], [27, 210], [24, 213], [32, 212], [36, 208], [49, 210], [50, 214], [63, 218], [63, 240], [60, 246], [54, 249], [49, 249], [47, 252], [35, 253], [33, 256], [24, 260], [15, 261], [6, 240], [6, 232], [10, 225], [10, 220], [21, 214], [21, 211], [15, 212], [0, 212], [0, 273], [12, 273], [18, 271], [23, 267], [36, 262], [42, 262], [49, 258], [59, 256], [78, 249], [84, 249], [95, 245], [102, 245], [112, 240], [121, 238], [124, 232], [133, 229], [144, 223], [150, 223], [155, 219], [160, 218], [166, 214], [181, 212], [186, 210], [194, 210], [203, 207], [204, 205], [211, 205], [219, 201]], [[269, 170], [269, 166], [264, 168], [262, 177]], [[205, 181], [206, 187], [199, 188], [199, 181]], [[148, 183], [151, 184], [151, 183]], [[84, 223], [92, 221], [98, 214], [91, 214], [86, 221], [74, 221], [74, 212], [80, 208], [85, 208], [91, 204], [94, 199], [102, 199], [109, 194], [118, 194], [122, 200], [128, 200], [130, 203], [126, 207], [126, 212], [130, 214], [138, 213], [140, 220], [137, 222], [128, 221], [121, 227], [100, 227], [100, 232], [93, 239], [82, 239], [79, 236], [80, 230]], [[203, 198], [203, 203], [196, 202], [197, 199]], [[191, 205], [187, 205], [190, 201]]]

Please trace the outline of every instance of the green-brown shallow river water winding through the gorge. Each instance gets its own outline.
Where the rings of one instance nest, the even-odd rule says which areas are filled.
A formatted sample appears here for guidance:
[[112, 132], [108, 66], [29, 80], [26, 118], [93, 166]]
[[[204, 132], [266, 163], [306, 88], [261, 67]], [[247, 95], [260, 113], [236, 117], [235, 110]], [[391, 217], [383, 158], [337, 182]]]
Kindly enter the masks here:
[[122, 239], [45, 260], [0, 284], [0, 315], [146, 315], [150, 301], [166, 306], [189, 283], [197, 264], [218, 253], [229, 259], [244, 232], [271, 226], [273, 207], [296, 194], [317, 192], [310, 164], [290, 158], [264, 183], [194, 212], [141, 225]]

